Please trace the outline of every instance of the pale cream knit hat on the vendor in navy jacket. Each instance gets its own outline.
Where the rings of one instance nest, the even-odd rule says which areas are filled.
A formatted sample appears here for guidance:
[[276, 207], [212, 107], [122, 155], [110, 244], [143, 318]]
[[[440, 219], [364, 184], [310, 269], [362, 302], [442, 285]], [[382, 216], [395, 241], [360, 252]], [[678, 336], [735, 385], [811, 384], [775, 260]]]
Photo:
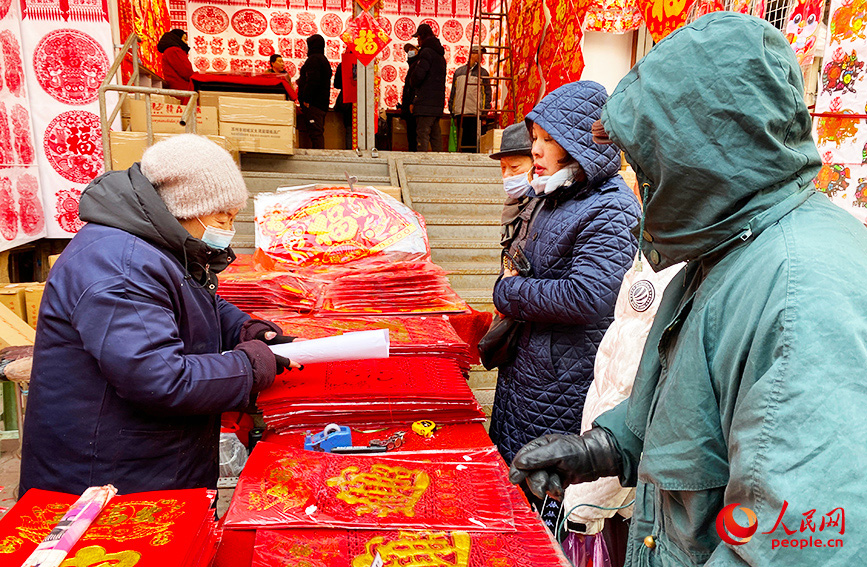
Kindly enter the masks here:
[[249, 197], [232, 155], [195, 134], [172, 136], [148, 148], [141, 172], [178, 219], [243, 209]]

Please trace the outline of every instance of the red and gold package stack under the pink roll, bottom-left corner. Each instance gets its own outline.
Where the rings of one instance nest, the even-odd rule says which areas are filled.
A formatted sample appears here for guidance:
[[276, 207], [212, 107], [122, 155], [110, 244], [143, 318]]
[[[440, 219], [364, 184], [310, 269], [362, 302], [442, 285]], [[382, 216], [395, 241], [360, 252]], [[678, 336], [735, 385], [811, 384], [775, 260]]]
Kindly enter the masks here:
[[[206, 567], [219, 540], [215, 499], [216, 491], [204, 488], [115, 496], [64, 565]], [[76, 500], [73, 494], [28, 490], [0, 519], [0, 564], [23, 564]]]

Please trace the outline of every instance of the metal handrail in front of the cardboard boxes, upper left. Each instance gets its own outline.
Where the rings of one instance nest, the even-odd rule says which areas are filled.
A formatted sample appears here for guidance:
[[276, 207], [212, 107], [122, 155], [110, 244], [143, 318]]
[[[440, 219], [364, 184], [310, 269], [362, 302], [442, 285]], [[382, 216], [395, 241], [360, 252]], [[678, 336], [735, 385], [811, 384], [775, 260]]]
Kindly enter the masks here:
[[[186, 132], [195, 134], [196, 133], [196, 107], [199, 103], [199, 93], [196, 91], [181, 91], [177, 89], [162, 89], [156, 87], [142, 87], [139, 85], [139, 51], [138, 51], [138, 43], [139, 38], [136, 34], [132, 33], [127, 38], [126, 42], [120, 48], [117, 56], [114, 59], [114, 63], [112, 63], [111, 68], [108, 71], [108, 74], [105, 76], [105, 80], [102, 81], [102, 84], [99, 87], [99, 120], [100, 125], [102, 127], [102, 158], [105, 164], [105, 170], [109, 171], [111, 169], [111, 139], [109, 137], [109, 132], [111, 129], [111, 124], [117, 118], [118, 113], [120, 113], [121, 108], [123, 107], [123, 103], [129, 97], [129, 94], [135, 94], [136, 98], [138, 95], [143, 94], [145, 99], [145, 117], [147, 123], [147, 145], [153, 145], [154, 143], [154, 131], [153, 131], [153, 120], [151, 117], [151, 95], [164, 95], [164, 96], [173, 96], [176, 98], [189, 98], [187, 104], [184, 106], [184, 112], [181, 115], [180, 125], [184, 126]], [[117, 76], [118, 70], [120, 69], [120, 65], [123, 60], [126, 58], [126, 54], [132, 54], [132, 76], [130, 76], [129, 81], [127, 81], [126, 85], [111, 84], [112, 77]], [[119, 81], [118, 81], [119, 82]], [[114, 110], [111, 112], [111, 116], [108, 116], [108, 103], [105, 99], [105, 93], [109, 91], [119, 92], [121, 95], [118, 97], [117, 104], [114, 106]]]

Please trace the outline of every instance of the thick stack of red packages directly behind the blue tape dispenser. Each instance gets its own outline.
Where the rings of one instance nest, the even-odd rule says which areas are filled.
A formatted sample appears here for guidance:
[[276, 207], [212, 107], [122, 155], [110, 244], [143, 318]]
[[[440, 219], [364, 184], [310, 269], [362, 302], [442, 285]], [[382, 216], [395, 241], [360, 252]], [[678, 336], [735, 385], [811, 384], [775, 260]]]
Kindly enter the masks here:
[[427, 356], [308, 364], [279, 376], [259, 394], [258, 406], [277, 431], [485, 420], [455, 361]]

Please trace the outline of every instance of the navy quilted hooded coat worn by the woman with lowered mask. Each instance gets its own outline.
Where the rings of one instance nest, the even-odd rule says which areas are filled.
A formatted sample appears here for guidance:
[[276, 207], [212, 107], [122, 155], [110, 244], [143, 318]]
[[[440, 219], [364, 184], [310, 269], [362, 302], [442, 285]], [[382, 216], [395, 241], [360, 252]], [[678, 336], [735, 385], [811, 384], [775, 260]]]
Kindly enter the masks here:
[[533, 277], [501, 279], [494, 305], [524, 326], [516, 359], [500, 368], [491, 438], [506, 459], [547, 433], [580, 433], [593, 361], [637, 242], [638, 202], [618, 175], [620, 152], [593, 143], [607, 94], [594, 82], [555, 90], [527, 115], [574, 157], [587, 181], [543, 197], [525, 253]]

